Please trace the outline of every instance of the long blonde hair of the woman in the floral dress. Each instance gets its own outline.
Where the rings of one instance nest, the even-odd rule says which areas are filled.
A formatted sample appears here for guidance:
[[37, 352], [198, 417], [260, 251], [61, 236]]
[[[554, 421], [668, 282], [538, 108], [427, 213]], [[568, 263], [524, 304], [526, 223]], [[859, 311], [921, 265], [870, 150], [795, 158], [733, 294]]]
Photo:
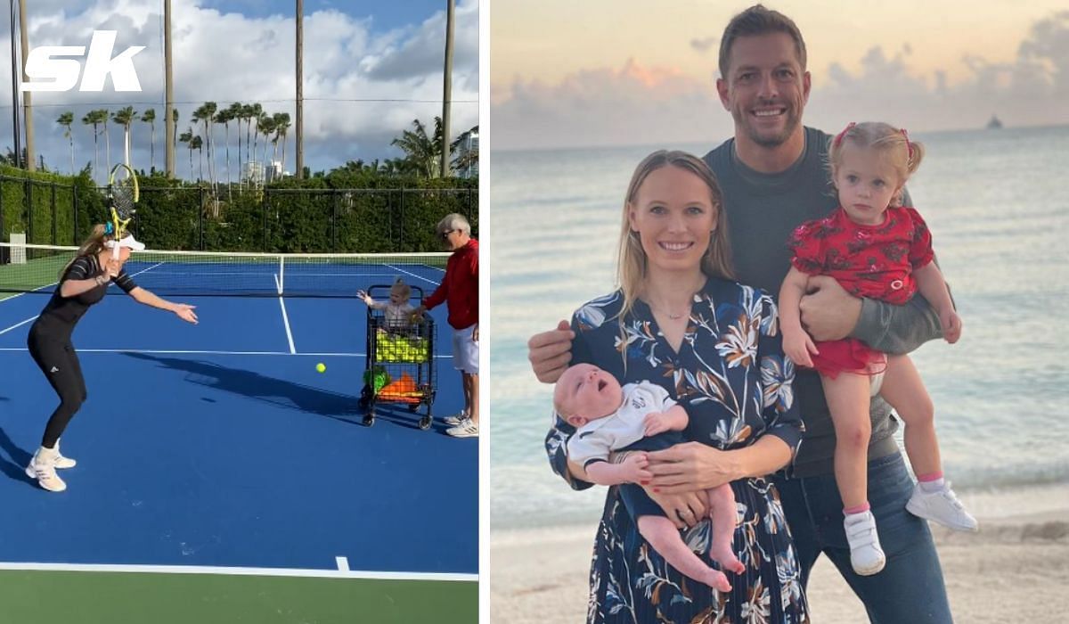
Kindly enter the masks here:
[[709, 277], [734, 279], [731, 269], [731, 245], [728, 242], [728, 216], [724, 212], [724, 195], [716, 176], [701, 158], [681, 151], [660, 150], [642, 159], [635, 168], [623, 199], [623, 223], [620, 227], [620, 252], [617, 260], [617, 281], [623, 291], [623, 307], [620, 317], [626, 316], [635, 305], [646, 278], [647, 258], [638, 232], [631, 229], [628, 215], [638, 196], [638, 189], [650, 173], [664, 167], [678, 167], [694, 173], [709, 187], [709, 198], [713, 204], [716, 229], [709, 234], [709, 247], [701, 257], [701, 272]]

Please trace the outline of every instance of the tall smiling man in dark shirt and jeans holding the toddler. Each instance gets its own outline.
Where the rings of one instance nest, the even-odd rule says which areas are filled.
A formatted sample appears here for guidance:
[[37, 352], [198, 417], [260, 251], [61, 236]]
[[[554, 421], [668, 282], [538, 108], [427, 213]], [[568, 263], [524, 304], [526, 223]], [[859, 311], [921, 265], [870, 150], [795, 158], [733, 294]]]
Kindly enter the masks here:
[[[717, 93], [734, 120], [734, 137], [706, 155], [724, 193], [733, 264], [738, 279], [777, 293], [790, 268], [787, 240], [802, 223], [826, 215], [836, 206], [825, 168], [828, 135], [802, 125], [809, 96], [805, 43], [794, 22], [758, 4], [731, 19], [721, 40]], [[803, 299], [802, 319], [816, 340], [851, 336], [873, 349], [905, 353], [940, 337], [935, 314], [920, 296], [895, 306], [856, 299], [831, 277], [810, 278], [815, 290]], [[570, 360], [572, 334], [567, 323], [531, 338], [531, 364], [541, 381], [555, 381]], [[835, 485], [835, 430], [819, 377], [800, 371], [795, 392], [806, 432], [790, 477], [777, 475], [784, 511], [797, 550], [803, 584], [821, 553], [832, 560], [879, 623], [949, 624], [943, 574], [924, 520], [905, 511], [913, 490], [893, 438], [897, 423], [889, 406], [872, 400], [868, 451], [868, 491], [887, 555], [883, 572], [863, 577], [850, 565], [842, 527], [842, 501]], [[696, 460], [693, 447], [662, 452], [673, 462]], [[651, 458], [652, 459], [652, 458]], [[670, 463], [651, 466], [659, 474], [650, 487], [666, 508], [671, 497]], [[659, 472], [660, 471], [660, 472]], [[665, 487], [667, 486], [667, 487]], [[700, 519], [681, 511], [687, 524]]]

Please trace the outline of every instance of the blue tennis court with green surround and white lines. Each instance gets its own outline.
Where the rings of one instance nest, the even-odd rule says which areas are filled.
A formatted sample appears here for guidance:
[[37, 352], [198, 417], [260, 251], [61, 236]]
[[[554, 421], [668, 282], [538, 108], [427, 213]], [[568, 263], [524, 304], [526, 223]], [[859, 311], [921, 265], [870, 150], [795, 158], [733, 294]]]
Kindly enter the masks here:
[[89, 399], [62, 440], [78, 466], [51, 493], [24, 472], [58, 402], [26, 337], [69, 257], [13, 248], [25, 263], [0, 265], [4, 288], [38, 291], [0, 294], [0, 600], [95, 596], [62, 607], [77, 622], [139, 606], [154, 622], [477, 620], [477, 439], [444, 432], [463, 407], [445, 306], [432, 429], [390, 404], [365, 427], [357, 406], [353, 294], [398, 276], [430, 293], [445, 256], [136, 254], [135, 280], [201, 322], [113, 286], [79, 322]]

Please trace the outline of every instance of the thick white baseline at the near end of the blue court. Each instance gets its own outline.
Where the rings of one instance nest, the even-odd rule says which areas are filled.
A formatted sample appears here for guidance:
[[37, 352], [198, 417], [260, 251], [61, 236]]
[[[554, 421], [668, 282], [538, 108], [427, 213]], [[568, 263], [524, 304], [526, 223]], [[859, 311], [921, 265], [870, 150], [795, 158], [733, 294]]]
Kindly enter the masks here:
[[226, 567], [204, 565], [106, 565], [88, 563], [0, 562], [0, 569], [35, 572], [121, 572], [146, 574], [214, 574], [230, 576], [285, 576], [384, 580], [478, 581], [478, 574], [430, 572], [374, 572], [350, 569], [304, 569], [292, 567]]

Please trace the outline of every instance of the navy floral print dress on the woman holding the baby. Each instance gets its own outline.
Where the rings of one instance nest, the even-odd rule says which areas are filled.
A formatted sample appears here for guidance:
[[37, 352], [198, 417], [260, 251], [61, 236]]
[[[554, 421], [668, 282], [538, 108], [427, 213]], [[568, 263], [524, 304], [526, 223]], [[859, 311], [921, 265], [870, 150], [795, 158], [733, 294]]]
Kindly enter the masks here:
[[[690, 416], [685, 437], [721, 450], [780, 438], [792, 450], [802, 421], [791, 383], [794, 365], [784, 356], [776, 307], [768, 294], [709, 278], [695, 294], [680, 350], [657, 329], [649, 306], [635, 302], [623, 319], [621, 292], [593, 300], [572, 318], [572, 364], [591, 363], [621, 383], [648, 380], [668, 391]], [[622, 322], [621, 322], [622, 320]], [[575, 429], [559, 417], [546, 437], [554, 472], [573, 488], [591, 484], [568, 472], [566, 443]], [[746, 569], [728, 574], [721, 593], [692, 580], [642, 539], [620, 500], [608, 489], [590, 569], [591, 623], [797, 624], [809, 622], [800, 570], [779, 497], [771, 481], [731, 483], [738, 508], [734, 550]], [[683, 534], [707, 563], [710, 522]]]

